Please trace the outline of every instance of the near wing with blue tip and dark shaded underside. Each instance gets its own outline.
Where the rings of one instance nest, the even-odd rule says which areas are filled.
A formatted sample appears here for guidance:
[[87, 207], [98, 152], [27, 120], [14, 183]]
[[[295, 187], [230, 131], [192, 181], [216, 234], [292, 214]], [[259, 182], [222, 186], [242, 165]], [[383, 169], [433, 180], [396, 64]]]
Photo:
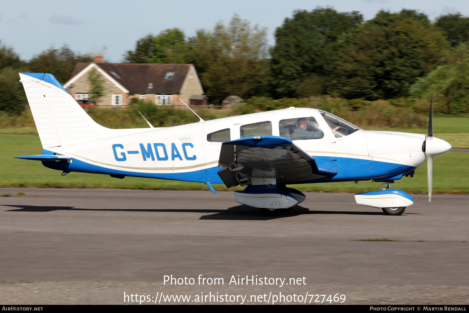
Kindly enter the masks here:
[[290, 139], [278, 136], [241, 138], [221, 145], [218, 175], [230, 188], [249, 185], [252, 178], [269, 184], [294, 184], [334, 176], [337, 171], [319, 168], [314, 158]]

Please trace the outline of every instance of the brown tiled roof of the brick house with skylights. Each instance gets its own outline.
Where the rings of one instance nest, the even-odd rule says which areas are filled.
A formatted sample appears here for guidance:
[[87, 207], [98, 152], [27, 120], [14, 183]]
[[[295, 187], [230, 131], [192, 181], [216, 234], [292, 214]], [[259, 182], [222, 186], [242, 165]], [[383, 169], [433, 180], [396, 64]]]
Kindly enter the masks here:
[[[72, 78], [88, 65], [90, 63], [77, 63]], [[130, 93], [176, 94], [180, 93], [192, 64], [96, 63], [96, 65]], [[174, 76], [165, 79], [167, 73], [174, 73]], [[151, 86], [153, 88], [149, 88]]]

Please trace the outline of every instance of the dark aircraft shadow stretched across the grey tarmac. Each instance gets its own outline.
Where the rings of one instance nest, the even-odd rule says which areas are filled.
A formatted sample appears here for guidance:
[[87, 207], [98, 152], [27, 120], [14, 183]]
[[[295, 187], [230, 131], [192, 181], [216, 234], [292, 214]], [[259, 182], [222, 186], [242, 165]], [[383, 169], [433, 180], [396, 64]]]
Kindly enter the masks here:
[[118, 211], [118, 212], [192, 212], [192, 213], [213, 213], [201, 216], [199, 219], [206, 220], [271, 220], [285, 218], [303, 214], [351, 214], [351, 215], [385, 215], [383, 212], [363, 212], [363, 211], [323, 211], [310, 210], [299, 205], [295, 205], [290, 211], [284, 212], [280, 216], [264, 216], [259, 209], [251, 208], [247, 205], [238, 205], [228, 209], [80, 209], [75, 207], [50, 207], [33, 205], [2, 205], [19, 209], [6, 210], [8, 212], [51, 212], [58, 210], [70, 211]]

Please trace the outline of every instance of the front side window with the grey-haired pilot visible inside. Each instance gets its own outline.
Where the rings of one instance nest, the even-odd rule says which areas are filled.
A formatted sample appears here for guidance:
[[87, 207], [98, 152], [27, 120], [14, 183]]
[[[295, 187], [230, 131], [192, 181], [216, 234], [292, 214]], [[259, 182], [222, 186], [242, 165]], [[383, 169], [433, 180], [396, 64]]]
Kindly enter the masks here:
[[280, 136], [291, 140], [320, 139], [324, 137], [322, 129], [312, 116], [280, 120], [279, 133]]

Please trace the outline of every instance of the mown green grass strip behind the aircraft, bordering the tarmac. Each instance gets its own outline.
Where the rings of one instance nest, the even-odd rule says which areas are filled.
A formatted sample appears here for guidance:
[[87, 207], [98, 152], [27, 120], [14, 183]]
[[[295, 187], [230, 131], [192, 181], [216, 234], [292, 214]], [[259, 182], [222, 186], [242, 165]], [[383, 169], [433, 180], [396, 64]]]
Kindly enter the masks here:
[[[71, 172], [61, 176], [61, 171], [44, 167], [39, 161], [15, 159], [16, 156], [39, 154], [42, 146], [37, 136], [8, 136], [0, 134], [2, 149], [0, 162], [3, 164], [0, 175], [1, 187], [54, 187], [54, 188], [126, 188], [126, 189], [165, 189], [165, 190], [209, 190], [203, 183], [163, 179], [126, 177], [115, 179], [108, 175]], [[433, 159], [434, 194], [469, 194], [469, 153], [446, 152]], [[420, 166], [413, 178], [404, 177], [392, 185], [409, 193], [427, 193], [426, 163]], [[465, 183], [466, 182], [466, 183]], [[216, 190], [228, 190], [223, 184], [213, 184]], [[359, 193], [377, 190], [379, 183], [360, 181], [291, 185], [304, 192], [349, 192]], [[242, 190], [244, 187], [230, 188]]]

